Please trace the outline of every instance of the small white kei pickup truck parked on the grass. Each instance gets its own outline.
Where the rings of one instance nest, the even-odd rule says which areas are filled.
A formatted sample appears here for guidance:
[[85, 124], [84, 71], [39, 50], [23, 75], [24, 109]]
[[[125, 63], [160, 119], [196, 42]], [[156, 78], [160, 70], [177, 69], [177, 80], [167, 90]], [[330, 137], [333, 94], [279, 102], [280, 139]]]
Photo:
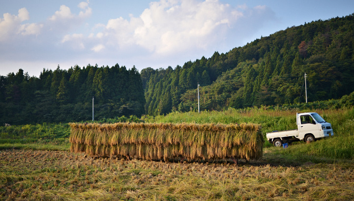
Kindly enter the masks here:
[[266, 133], [266, 138], [274, 146], [295, 141], [315, 141], [333, 136], [332, 125], [317, 113], [296, 113], [296, 130], [273, 131]]

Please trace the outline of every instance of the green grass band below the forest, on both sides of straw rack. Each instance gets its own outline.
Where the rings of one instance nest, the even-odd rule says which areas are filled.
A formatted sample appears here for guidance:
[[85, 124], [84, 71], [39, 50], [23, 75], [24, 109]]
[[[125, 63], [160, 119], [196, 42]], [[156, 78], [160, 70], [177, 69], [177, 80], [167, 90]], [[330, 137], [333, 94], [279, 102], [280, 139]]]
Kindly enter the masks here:
[[[296, 129], [296, 113], [317, 112], [327, 122], [332, 124], [334, 138], [327, 138], [312, 144], [296, 144], [294, 153], [301, 157], [301, 154], [314, 155], [331, 158], [353, 158], [354, 156], [354, 109], [330, 109], [330, 110], [299, 110], [288, 109], [278, 110], [269, 107], [246, 108], [242, 110], [228, 109], [225, 111], [204, 111], [201, 113], [174, 112], [168, 115], [143, 116], [137, 120], [136, 117], [119, 117], [117, 119], [104, 120], [103, 122], [117, 121], [145, 121], [148, 123], [196, 123], [196, 124], [242, 124], [254, 123], [262, 126], [263, 137], [266, 132], [274, 130]], [[69, 138], [70, 127], [68, 124], [36, 124], [21, 126], [0, 126], [1, 144], [66, 144]], [[66, 140], [65, 140], [66, 139]], [[270, 147], [267, 141], [265, 147]], [[6, 147], [9, 147], [6, 145]], [[283, 150], [283, 154], [292, 151], [293, 148]]]

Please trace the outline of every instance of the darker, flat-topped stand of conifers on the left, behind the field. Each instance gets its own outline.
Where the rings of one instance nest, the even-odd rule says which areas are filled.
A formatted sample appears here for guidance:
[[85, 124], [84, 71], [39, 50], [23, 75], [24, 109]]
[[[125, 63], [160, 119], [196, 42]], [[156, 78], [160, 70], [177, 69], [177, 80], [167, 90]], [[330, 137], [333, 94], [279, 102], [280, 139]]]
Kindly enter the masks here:
[[39, 78], [20, 69], [0, 77], [0, 123], [69, 122], [145, 113], [144, 90], [135, 67], [88, 65], [45, 70]]

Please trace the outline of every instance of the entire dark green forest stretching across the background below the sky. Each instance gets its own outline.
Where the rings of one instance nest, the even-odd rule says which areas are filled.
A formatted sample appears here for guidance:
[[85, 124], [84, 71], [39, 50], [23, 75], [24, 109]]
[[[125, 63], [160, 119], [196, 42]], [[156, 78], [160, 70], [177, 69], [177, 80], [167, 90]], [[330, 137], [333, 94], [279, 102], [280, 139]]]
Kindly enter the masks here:
[[166, 69], [74, 66], [0, 76], [0, 122], [161, 115], [339, 99], [354, 91], [354, 14], [280, 30], [227, 53]]

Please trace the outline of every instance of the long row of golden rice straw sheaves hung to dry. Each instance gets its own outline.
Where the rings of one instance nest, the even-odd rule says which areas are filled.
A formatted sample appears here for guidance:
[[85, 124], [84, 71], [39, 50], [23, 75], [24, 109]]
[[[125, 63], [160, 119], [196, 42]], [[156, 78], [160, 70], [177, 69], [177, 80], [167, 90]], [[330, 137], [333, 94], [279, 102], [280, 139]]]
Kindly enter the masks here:
[[71, 123], [70, 150], [89, 156], [147, 160], [258, 159], [264, 139], [257, 124]]

